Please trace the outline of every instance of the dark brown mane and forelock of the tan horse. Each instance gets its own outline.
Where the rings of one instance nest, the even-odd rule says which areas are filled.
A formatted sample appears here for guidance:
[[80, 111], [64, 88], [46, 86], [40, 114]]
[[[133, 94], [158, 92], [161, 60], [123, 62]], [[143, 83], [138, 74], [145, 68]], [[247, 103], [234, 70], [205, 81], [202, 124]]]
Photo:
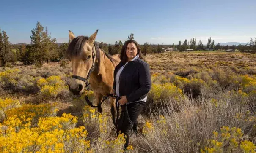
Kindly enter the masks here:
[[[74, 38], [70, 42], [69, 47], [66, 50], [66, 55], [69, 56], [69, 58], [81, 55], [81, 53], [83, 52], [83, 46], [88, 39], [89, 38], [87, 36], [78, 36], [78, 37]], [[100, 64], [100, 48], [96, 42], [94, 42], [94, 46], [95, 46], [95, 50], [96, 50], [96, 59]], [[116, 59], [114, 59], [112, 56], [110, 56], [110, 54], [107, 54], [105, 51], [103, 51], [103, 49], [101, 49], [101, 50], [107, 56], [107, 58], [110, 59], [110, 61], [113, 64], [117, 63]]]

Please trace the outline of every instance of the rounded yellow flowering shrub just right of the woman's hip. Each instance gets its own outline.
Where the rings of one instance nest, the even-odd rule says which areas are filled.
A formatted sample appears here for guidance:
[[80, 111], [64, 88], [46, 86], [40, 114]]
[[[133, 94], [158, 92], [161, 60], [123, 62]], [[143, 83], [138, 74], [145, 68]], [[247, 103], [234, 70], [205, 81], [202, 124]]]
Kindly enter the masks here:
[[172, 83], [165, 83], [163, 85], [153, 83], [149, 91], [149, 97], [152, 97], [154, 102], [168, 98], [179, 99], [182, 95], [182, 90]]

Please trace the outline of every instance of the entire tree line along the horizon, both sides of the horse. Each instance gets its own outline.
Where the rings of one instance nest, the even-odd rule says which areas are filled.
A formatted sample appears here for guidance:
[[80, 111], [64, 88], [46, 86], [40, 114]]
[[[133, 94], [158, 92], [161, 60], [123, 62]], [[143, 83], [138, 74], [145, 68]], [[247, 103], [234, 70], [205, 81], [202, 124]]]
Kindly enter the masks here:
[[[20, 61], [25, 65], [36, 64], [37, 67], [41, 67], [44, 62], [59, 62], [61, 59], [65, 59], [65, 52], [69, 46], [69, 42], [58, 45], [56, 38], [51, 37], [47, 27], [43, 27], [40, 22], [37, 22], [36, 27], [31, 30], [31, 43], [30, 44], [17, 44], [12, 45], [8, 40], [8, 35], [5, 31], [0, 29], [0, 65], [7, 67], [8, 64]], [[134, 34], [131, 33], [127, 36], [127, 40], [135, 39]], [[124, 45], [122, 40], [116, 41], [115, 44], [99, 43], [99, 47], [110, 55], [120, 54], [121, 48]], [[140, 49], [143, 55], [148, 53], [162, 53], [162, 48], [171, 47], [176, 48], [179, 51], [187, 51], [187, 49], [193, 50], [239, 50], [242, 53], [256, 53], [256, 38], [251, 39], [247, 45], [232, 45], [223, 46], [218, 43], [215, 45], [215, 41], [209, 37], [207, 44], [204, 45], [199, 40], [198, 45], [196, 38], [187, 39], [182, 43], [179, 41], [177, 45], [160, 45], [150, 44], [145, 42], [140, 45]]]

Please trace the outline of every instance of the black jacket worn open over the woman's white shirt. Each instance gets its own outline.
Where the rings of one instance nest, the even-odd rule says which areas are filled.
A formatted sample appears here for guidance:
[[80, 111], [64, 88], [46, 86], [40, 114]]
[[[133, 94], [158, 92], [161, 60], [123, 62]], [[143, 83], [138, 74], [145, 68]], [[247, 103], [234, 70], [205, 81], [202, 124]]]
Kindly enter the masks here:
[[[125, 64], [120, 62], [114, 71], [113, 89], [116, 90], [116, 73]], [[139, 101], [147, 96], [151, 89], [149, 64], [138, 58], [128, 62], [119, 77], [119, 96], [126, 96], [129, 102]]]

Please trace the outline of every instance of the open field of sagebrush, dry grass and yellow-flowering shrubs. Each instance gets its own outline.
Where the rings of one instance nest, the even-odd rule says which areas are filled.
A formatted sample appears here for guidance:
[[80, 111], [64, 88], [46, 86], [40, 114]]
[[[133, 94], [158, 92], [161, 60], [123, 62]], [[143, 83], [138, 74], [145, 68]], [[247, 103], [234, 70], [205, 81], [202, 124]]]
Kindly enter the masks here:
[[[153, 84], [127, 152], [256, 150], [256, 54], [170, 52], [144, 59]], [[109, 102], [98, 115], [70, 94], [71, 72], [65, 62], [0, 68], [0, 152], [122, 152]]]

